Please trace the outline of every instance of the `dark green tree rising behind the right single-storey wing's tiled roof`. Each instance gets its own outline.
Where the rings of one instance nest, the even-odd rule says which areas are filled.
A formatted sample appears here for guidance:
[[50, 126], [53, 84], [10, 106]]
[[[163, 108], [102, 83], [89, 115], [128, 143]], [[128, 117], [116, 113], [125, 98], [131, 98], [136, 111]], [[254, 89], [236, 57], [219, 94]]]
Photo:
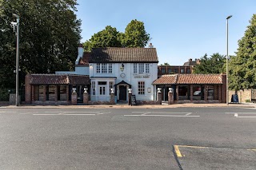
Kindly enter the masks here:
[[210, 57], [205, 54], [200, 58], [200, 64], [194, 66], [194, 73], [222, 73], [224, 71], [225, 57], [214, 53]]

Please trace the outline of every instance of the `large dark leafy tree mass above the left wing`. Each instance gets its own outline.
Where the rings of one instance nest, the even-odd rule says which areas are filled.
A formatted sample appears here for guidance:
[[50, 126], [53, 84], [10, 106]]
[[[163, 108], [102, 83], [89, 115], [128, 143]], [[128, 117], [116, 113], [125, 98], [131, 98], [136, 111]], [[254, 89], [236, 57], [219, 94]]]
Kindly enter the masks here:
[[[76, 0], [0, 0], [0, 85], [14, 87], [16, 38], [10, 22], [20, 16], [20, 80], [26, 73], [74, 67], [81, 39]], [[11, 86], [10, 86], [11, 85]]]

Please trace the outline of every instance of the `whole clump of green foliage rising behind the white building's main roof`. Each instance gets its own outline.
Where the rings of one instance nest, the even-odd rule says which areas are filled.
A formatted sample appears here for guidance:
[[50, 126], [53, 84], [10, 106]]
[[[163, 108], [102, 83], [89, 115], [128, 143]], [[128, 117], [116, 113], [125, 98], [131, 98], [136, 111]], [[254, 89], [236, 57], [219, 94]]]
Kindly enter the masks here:
[[86, 51], [97, 47], [144, 47], [150, 40], [150, 34], [146, 34], [143, 22], [132, 20], [126, 26], [125, 33], [111, 26], [94, 34], [90, 40], [84, 42]]

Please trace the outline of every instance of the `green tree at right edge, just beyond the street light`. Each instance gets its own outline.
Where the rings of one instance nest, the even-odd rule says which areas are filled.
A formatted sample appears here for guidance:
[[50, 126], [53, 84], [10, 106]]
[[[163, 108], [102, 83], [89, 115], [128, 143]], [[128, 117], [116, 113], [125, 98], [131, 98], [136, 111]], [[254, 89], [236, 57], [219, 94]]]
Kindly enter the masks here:
[[250, 89], [256, 86], [256, 14], [244, 37], [238, 41], [238, 52], [230, 58], [230, 89]]

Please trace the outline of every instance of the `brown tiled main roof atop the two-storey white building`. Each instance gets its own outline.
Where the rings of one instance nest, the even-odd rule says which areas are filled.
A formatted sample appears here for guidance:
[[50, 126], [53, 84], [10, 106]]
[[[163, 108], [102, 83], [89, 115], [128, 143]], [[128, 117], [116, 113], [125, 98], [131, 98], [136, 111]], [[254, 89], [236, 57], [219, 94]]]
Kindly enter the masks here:
[[89, 62], [158, 62], [155, 48], [94, 48]]

